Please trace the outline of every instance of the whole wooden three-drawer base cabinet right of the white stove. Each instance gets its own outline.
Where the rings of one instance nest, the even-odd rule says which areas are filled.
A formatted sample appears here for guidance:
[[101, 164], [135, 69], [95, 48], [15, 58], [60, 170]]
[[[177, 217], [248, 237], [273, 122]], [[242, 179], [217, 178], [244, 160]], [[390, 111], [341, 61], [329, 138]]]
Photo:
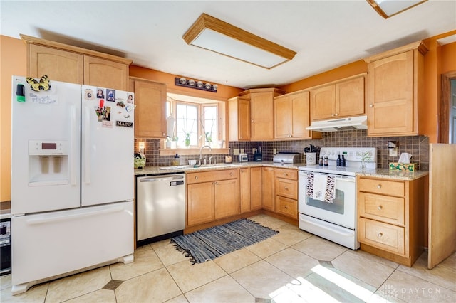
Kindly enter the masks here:
[[357, 178], [361, 250], [411, 267], [424, 248], [427, 179]]

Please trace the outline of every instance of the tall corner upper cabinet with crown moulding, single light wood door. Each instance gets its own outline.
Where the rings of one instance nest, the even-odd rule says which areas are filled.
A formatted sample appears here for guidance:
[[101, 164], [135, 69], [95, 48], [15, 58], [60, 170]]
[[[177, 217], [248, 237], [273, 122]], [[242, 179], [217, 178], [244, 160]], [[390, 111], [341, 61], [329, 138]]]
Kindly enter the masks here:
[[250, 139], [252, 141], [274, 139], [274, 97], [283, 95], [276, 88], [246, 90], [239, 97], [250, 101]]

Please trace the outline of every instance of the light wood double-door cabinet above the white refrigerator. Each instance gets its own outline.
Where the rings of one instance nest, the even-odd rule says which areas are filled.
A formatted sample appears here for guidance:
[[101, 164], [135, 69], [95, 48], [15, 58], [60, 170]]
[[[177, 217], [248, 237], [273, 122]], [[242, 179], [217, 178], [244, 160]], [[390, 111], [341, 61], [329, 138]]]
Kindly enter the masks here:
[[132, 60], [21, 35], [27, 47], [27, 75], [115, 90], [128, 90]]

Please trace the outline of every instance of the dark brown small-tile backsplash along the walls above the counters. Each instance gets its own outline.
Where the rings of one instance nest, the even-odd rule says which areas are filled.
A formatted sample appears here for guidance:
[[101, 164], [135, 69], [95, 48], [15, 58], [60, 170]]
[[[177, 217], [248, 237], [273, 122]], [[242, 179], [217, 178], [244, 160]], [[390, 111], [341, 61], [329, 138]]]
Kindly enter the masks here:
[[[135, 139], [135, 150], [138, 150], [138, 139]], [[168, 166], [173, 156], [160, 156], [160, 140], [141, 138], [145, 142], [146, 166]], [[388, 156], [388, 141], [397, 142], [398, 156]], [[409, 137], [367, 137], [366, 130], [345, 130], [340, 132], [324, 132], [319, 140], [296, 140], [296, 141], [264, 141], [264, 142], [229, 142], [229, 155], [233, 156], [233, 149], [244, 149], [249, 161], [254, 161], [253, 148], [261, 145], [263, 161], [272, 161], [276, 149], [278, 152], [298, 152], [301, 154], [301, 162], [305, 163], [304, 148], [309, 144], [317, 147], [377, 147], [378, 168], [387, 169], [390, 162], [397, 162], [401, 153], [412, 155], [410, 162], [418, 164], [418, 169], [429, 169], [429, 138], [425, 136]], [[224, 162], [224, 154], [206, 154], [217, 163]], [[180, 156], [181, 163], [187, 164], [189, 159], [197, 159], [197, 155]], [[233, 156], [233, 161], [239, 161], [238, 156]]]

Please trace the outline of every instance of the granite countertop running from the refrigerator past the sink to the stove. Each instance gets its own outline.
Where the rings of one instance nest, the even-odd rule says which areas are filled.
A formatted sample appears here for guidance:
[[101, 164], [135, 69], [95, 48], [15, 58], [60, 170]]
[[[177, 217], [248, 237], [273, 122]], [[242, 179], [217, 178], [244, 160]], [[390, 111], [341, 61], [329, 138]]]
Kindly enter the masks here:
[[[302, 163], [295, 164], [277, 164], [274, 162], [233, 162], [233, 163], [220, 163], [220, 164], [207, 164], [200, 167], [193, 167], [191, 165], [180, 165], [180, 166], [146, 166], [144, 169], [135, 169], [135, 176], [145, 176], [152, 174], [169, 174], [169, 173], [182, 173], [192, 171], [212, 171], [215, 169], [241, 169], [243, 167], [255, 167], [255, 166], [270, 166], [270, 167], [282, 167], [286, 169], [298, 169], [299, 166], [303, 166]], [[165, 167], [166, 169], [160, 169]]]

